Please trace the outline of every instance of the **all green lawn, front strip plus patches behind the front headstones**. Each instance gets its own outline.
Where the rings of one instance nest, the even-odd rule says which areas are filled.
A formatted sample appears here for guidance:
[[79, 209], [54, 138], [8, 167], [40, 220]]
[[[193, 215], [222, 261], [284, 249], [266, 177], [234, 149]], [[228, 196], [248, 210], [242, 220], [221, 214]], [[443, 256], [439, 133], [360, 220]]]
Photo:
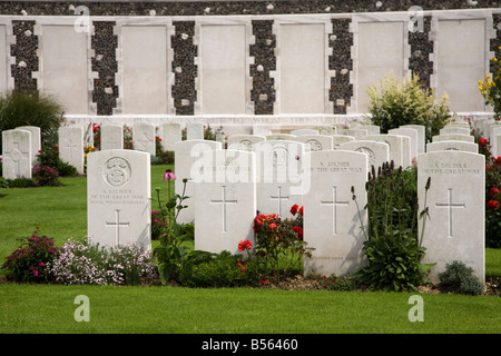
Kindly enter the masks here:
[[[166, 194], [166, 166], [151, 167], [155, 188]], [[86, 179], [63, 188], [0, 190], [0, 259], [16, 238], [40, 227], [62, 245], [87, 231]], [[189, 204], [189, 201], [187, 200]], [[153, 202], [153, 208], [157, 206]], [[501, 250], [487, 249], [487, 275], [501, 276]], [[78, 295], [89, 297], [89, 323], [77, 323]], [[0, 333], [102, 334], [444, 334], [501, 333], [501, 298], [423, 297], [424, 322], [411, 323], [407, 293], [276, 289], [190, 289], [0, 284]]]

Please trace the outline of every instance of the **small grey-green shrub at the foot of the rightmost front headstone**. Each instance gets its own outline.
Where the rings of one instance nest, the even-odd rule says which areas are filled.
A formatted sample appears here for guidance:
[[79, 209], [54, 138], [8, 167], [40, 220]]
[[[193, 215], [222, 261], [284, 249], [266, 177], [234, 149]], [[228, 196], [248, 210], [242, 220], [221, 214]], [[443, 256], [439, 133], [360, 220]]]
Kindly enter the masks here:
[[445, 265], [445, 270], [439, 274], [442, 288], [466, 295], [480, 295], [483, 284], [473, 275], [473, 268], [463, 261], [454, 260]]

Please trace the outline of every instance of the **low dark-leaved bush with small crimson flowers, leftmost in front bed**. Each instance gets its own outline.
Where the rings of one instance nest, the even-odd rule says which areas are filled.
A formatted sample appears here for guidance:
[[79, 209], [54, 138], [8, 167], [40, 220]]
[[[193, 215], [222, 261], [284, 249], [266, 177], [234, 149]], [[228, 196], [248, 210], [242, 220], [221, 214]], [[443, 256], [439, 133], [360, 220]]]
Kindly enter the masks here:
[[6, 277], [10, 280], [32, 283], [48, 281], [48, 265], [53, 260], [58, 248], [53, 238], [40, 236], [38, 229], [30, 237], [19, 239], [21, 245], [2, 265]]

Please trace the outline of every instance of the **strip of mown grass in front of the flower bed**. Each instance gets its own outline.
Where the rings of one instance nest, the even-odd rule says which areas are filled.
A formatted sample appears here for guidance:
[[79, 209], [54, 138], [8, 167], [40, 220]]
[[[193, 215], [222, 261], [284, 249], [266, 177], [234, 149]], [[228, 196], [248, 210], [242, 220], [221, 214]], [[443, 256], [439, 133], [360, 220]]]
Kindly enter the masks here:
[[[77, 323], [76, 296], [89, 297]], [[409, 293], [0, 285], [0, 333], [440, 334], [501, 332], [499, 297]]]

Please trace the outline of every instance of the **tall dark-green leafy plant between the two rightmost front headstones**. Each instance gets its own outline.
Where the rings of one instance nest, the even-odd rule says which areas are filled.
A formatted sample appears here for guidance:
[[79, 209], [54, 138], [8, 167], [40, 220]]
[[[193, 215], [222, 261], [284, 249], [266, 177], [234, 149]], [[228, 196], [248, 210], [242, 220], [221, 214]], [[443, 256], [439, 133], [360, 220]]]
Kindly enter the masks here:
[[[430, 179], [425, 186], [430, 189]], [[422, 264], [422, 246], [428, 216], [426, 201], [420, 212], [423, 219], [421, 237], [418, 234], [416, 170], [394, 169], [393, 162], [374, 168], [366, 184], [369, 229], [363, 251], [367, 265], [354, 277], [373, 289], [415, 290], [428, 281], [432, 265]], [[353, 200], [356, 201], [354, 188]], [[360, 211], [360, 209], [358, 209]], [[361, 221], [362, 224], [362, 221]], [[363, 226], [362, 226], [363, 228]]]

